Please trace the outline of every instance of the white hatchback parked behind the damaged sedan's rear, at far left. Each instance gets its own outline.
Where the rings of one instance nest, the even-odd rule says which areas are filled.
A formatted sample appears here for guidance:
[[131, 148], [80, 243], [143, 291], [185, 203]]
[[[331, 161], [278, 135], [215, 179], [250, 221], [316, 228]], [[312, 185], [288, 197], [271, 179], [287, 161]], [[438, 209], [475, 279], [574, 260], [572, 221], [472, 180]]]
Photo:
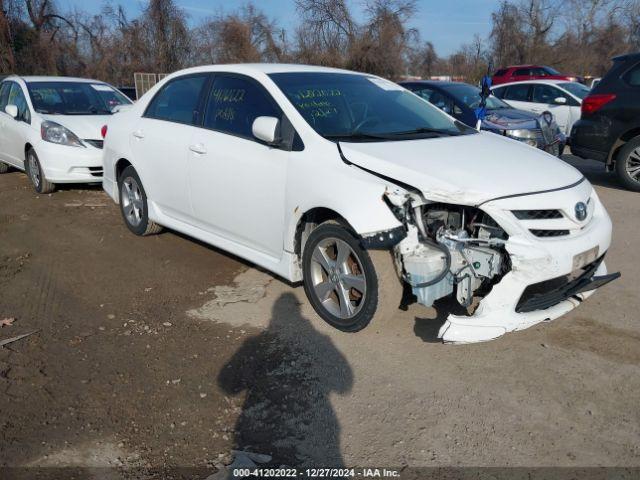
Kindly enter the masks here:
[[0, 173], [24, 170], [38, 193], [102, 181], [102, 126], [131, 101], [111, 85], [9, 76], [0, 84]]

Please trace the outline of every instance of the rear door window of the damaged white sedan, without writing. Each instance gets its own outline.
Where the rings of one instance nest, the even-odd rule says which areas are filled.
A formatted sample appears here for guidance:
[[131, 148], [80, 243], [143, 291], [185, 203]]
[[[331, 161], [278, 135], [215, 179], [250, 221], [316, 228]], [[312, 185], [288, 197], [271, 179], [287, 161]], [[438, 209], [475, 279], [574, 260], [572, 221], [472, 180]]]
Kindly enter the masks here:
[[194, 125], [206, 79], [206, 75], [193, 75], [171, 80], [153, 97], [144, 116]]

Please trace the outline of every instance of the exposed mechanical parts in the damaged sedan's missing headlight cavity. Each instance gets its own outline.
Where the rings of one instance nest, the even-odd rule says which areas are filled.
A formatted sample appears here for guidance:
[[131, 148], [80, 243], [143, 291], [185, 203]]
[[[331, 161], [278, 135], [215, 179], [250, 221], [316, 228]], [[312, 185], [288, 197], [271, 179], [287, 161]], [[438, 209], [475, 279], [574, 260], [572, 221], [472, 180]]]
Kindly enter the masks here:
[[455, 293], [463, 307], [484, 296], [511, 268], [504, 249], [506, 232], [475, 207], [429, 203], [417, 199], [399, 203], [386, 197], [407, 228], [394, 247], [396, 267], [419, 303], [431, 306]]

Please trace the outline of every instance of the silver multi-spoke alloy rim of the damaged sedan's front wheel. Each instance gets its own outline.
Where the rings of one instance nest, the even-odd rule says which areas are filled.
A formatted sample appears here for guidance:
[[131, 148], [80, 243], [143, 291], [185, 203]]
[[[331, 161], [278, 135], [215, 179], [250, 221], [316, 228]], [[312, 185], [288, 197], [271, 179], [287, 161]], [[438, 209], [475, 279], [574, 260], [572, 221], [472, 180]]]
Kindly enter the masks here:
[[339, 319], [354, 317], [364, 305], [367, 281], [362, 263], [349, 244], [325, 238], [313, 250], [311, 281], [322, 306]]

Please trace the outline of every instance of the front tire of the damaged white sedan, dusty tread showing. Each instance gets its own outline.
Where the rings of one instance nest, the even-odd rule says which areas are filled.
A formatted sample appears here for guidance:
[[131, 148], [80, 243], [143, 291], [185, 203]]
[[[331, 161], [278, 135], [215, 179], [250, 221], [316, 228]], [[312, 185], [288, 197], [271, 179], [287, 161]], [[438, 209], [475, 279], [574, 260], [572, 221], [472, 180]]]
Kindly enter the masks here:
[[[339, 275], [336, 275], [333, 268], [330, 270], [334, 273], [331, 273], [314, 259], [316, 247], [323, 249], [324, 245], [331, 245], [334, 240], [348, 245], [349, 260], [344, 262], [344, 265], [350, 264], [350, 268], [355, 271], [350, 270], [344, 273], [346, 270], [341, 270]], [[333, 247], [327, 247], [324, 250], [329, 257], [331, 256], [328, 251], [330, 248]], [[335, 258], [332, 261], [335, 263], [332, 265], [335, 266], [338, 264], [338, 243], [335, 244], [333, 253]], [[369, 325], [371, 321], [391, 319], [399, 309], [402, 300], [402, 283], [396, 273], [391, 252], [363, 249], [355, 234], [343, 225], [323, 223], [311, 232], [304, 246], [302, 270], [304, 290], [309, 302], [324, 321], [338, 330], [357, 332]], [[351, 287], [344, 290], [341, 279], [332, 280], [334, 277], [360, 278], [361, 274], [364, 275], [364, 281], [361, 282], [366, 290], [364, 293]], [[328, 294], [321, 299], [316, 288], [323, 285], [333, 285], [333, 287], [331, 289], [327, 287], [325, 290]], [[346, 303], [340, 301], [341, 297], [337, 293], [340, 286], [343, 291], [348, 292], [348, 297], [342, 297], [347, 298]], [[345, 304], [349, 305], [349, 309], [354, 309], [353, 315], [339, 316]], [[340, 312], [336, 312], [336, 309]]]

